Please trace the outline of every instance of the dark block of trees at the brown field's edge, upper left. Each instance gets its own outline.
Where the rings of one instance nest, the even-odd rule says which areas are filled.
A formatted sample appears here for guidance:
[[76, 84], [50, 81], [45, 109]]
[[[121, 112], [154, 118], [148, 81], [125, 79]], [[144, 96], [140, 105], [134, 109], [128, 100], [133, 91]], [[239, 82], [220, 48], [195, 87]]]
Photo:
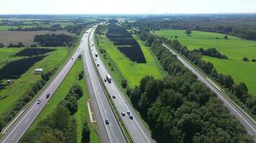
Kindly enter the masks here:
[[72, 46], [74, 38], [65, 34], [35, 35], [35, 42], [41, 46]]

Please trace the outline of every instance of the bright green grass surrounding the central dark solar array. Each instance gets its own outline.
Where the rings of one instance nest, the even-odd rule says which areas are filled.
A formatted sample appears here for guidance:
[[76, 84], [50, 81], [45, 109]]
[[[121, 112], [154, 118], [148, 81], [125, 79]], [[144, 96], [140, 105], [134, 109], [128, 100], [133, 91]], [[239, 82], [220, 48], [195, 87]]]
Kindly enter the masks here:
[[[122, 79], [127, 79], [129, 87], [134, 87], [140, 84], [140, 79], [145, 76], [153, 76], [156, 79], [163, 78], [163, 74], [159, 69], [157, 61], [155, 61], [154, 56], [150, 53], [149, 49], [137, 38], [134, 36], [135, 39], [139, 42], [145, 59], [147, 61], [146, 64], [137, 64], [135, 62], [130, 61], [127, 59], [124, 54], [122, 54], [116, 46], [114, 46], [109, 39], [106, 38], [106, 35], [101, 34], [101, 42], [97, 46], [99, 49], [106, 50], [106, 59], [101, 54], [101, 58], [105, 59], [104, 64], [107, 66], [109, 62], [111, 65], [114, 64], [114, 71], [111, 71], [111, 67], [107, 66], [111, 71], [111, 74], [114, 76], [114, 79], [119, 84], [121, 83]], [[116, 68], [116, 69], [115, 69]]]

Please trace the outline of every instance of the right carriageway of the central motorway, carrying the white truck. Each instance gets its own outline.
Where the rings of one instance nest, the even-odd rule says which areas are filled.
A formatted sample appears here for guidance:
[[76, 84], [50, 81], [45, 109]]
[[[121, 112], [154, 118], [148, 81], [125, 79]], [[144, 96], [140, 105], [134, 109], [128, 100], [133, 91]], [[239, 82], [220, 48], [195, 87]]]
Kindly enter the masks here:
[[[106, 66], [104, 66], [103, 61], [98, 56], [96, 57], [96, 46], [93, 43], [93, 34], [95, 29], [90, 34], [90, 46], [91, 46], [91, 54], [93, 56], [93, 61], [95, 64], [95, 67], [97, 67], [99, 74], [101, 76], [101, 80], [104, 82], [104, 79], [106, 79], [106, 74], [109, 74], [109, 71], [107, 71]], [[87, 51], [86, 51], [87, 52]], [[99, 64], [99, 66], [97, 66]], [[106, 87], [107, 91], [111, 96], [115, 96], [114, 98], [111, 98], [114, 102], [114, 105], [119, 112], [120, 116], [122, 117], [121, 113], [124, 112], [125, 116], [122, 117], [122, 120], [124, 122], [124, 125], [127, 127], [127, 130], [129, 134], [131, 135], [134, 142], [143, 143], [143, 142], [155, 142], [150, 132], [145, 128], [144, 124], [140, 121], [139, 117], [137, 116], [136, 112], [132, 108], [132, 106], [129, 104], [127, 99], [125, 98], [124, 94], [120, 91], [117, 84], [114, 82], [114, 80], [109, 82], [104, 82], [104, 86]], [[127, 111], [131, 112], [133, 115], [133, 119], [129, 119], [127, 115]]]

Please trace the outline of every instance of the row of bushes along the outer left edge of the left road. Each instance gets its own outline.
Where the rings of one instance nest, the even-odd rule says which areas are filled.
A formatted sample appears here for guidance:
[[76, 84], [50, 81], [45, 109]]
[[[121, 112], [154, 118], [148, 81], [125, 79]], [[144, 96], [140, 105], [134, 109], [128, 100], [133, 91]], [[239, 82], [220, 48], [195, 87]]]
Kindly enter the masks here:
[[8, 124], [28, 102], [35, 97], [37, 92], [39, 92], [42, 87], [45, 86], [46, 82], [50, 79], [50, 77], [52, 77], [55, 71], [57, 71], [57, 69], [52, 69], [47, 71], [45, 74], [42, 74], [42, 79], [33, 85], [32, 88], [24, 95], [24, 97], [22, 97], [22, 99], [19, 99], [14, 108], [10, 109], [9, 112], [6, 112], [2, 117], [0, 117], [0, 132], [1, 129], [3, 129], [6, 124]]

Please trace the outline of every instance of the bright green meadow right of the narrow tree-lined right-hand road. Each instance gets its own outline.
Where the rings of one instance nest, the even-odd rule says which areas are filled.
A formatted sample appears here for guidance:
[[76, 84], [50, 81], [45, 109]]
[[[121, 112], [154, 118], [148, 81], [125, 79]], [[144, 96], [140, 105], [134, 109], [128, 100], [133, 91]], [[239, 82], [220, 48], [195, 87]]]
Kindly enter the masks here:
[[[178, 40], [188, 49], [216, 48], [221, 54], [225, 54], [229, 59], [218, 59], [204, 56], [204, 60], [211, 61], [221, 74], [229, 74], [234, 82], [244, 82], [247, 84], [250, 94], [256, 96], [256, 62], [244, 62], [243, 57], [256, 59], [256, 41], [240, 39], [229, 36], [224, 39], [224, 34], [217, 34], [204, 31], [192, 31], [191, 36], [185, 34], [184, 30], [161, 30], [155, 31], [158, 36], [165, 36], [170, 39]], [[216, 39], [218, 37], [219, 39]]]

